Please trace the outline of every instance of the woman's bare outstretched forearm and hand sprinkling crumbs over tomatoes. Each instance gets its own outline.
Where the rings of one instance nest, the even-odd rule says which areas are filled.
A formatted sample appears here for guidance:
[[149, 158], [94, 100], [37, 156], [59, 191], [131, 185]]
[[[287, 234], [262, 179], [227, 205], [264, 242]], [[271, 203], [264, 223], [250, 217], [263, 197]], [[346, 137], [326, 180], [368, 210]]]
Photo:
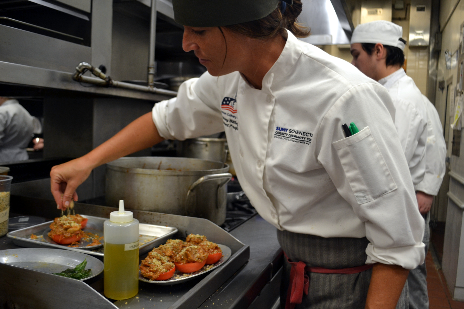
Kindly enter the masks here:
[[135, 151], [146, 149], [162, 140], [163, 138], [158, 133], [150, 112], [132, 121], [111, 139], [86, 155], [53, 166], [50, 172], [50, 181], [58, 209], [67, 208], [71, 199], [77, 201], [77, 187], [89, 177], [90, 172], [97, 166], [127, 156]]

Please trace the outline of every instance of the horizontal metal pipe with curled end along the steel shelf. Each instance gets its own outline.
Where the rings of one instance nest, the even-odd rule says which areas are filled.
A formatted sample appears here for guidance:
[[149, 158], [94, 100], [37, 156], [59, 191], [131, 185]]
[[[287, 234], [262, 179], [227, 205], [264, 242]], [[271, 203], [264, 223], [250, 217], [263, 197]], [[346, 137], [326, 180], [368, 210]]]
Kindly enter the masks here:
[[[87, 71], [92, 72], [93, 75], [99, 78], [84, 76], [84, 73]], [[177, 95], [176, 91], [158, 89], [158, 88], [149, 87], [149, 86], [140, 86], [140, 85], [131, 84], [129, 82], [115, 81], [114, 79], [111, 79], [110, 76], [105, 75], [100, 69], [86, 62], [81, 62], [77, 65], [76, 72], [74, 72], [74, 74], [72, 75], [72, 79], [77, 82], [86, 82], [89, 84], [94, 84], [94, 85], [103, 86], [103, 87], [111, 86], [111, 87], [116, 87], [116, 88], [126, 88], [126, 89], [138, 90], [138, 91], [143, 91], [143, 92], [156, 93], [159, 95], [169, 95], [169, 96]]]

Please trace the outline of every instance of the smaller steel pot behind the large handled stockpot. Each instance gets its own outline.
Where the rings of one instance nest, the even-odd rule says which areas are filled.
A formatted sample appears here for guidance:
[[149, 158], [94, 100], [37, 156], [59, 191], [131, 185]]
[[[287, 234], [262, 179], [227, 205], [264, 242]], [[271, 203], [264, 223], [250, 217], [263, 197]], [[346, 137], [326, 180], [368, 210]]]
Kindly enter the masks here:
[[183, 158], [225, 162], [227, 139], [198, 138], [178, 141], [177, 153]]

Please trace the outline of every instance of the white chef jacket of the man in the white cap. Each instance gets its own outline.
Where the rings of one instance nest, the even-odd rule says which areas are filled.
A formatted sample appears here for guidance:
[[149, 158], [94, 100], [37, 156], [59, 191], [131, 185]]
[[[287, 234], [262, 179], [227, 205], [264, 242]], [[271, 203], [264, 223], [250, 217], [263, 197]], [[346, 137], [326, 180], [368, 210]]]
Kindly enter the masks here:
[[404, 69], [379, 80], [388, 89], [395, 106], [395, 127], [416, 186], [425, 174], [427, 111], [419, 88]]

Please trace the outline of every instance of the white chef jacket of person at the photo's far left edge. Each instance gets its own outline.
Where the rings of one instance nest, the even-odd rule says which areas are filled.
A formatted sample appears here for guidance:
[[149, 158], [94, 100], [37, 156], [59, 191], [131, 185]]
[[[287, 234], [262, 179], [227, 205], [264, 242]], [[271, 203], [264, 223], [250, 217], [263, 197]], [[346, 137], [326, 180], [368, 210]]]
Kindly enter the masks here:
[[0, 105], [0, 164], [29, 159], [26, 147], [34, 131], [33, 118], [17, 100]]

